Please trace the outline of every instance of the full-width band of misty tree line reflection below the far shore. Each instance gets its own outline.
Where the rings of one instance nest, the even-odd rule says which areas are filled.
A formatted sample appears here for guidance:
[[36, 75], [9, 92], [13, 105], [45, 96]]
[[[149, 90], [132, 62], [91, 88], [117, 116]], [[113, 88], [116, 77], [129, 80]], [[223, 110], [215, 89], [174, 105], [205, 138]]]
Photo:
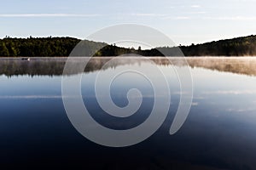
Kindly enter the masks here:
[[[109, 62], [112, 58], [94, 58], [90, 59], [86, 65], [84, 72], [99, 71], [107, 68], [115, 68], [119, 65], [133, 65], [147, 62], [136, 58], [115, 59]], [[170, 65], [169, 59], [150, 58], [157, 65]], [[245, 58], [186, 58], [189, 65], [193, 67], [202, 67], [216, 71], [227, 71], [238, 74], [256, 76], [256, 60]], [[0, 75], [18, 76], [18, 75], [62, 75], [67, 58], [36, 58], [31, 61], [21, 59], [1, 59], [0, 60]], [[171, 58], [172, 65], [180, 65], [181, 60]], [[79, 59], [75, 60], [79, 63]], [[71, 74], [77, 74], [72, 72]]]

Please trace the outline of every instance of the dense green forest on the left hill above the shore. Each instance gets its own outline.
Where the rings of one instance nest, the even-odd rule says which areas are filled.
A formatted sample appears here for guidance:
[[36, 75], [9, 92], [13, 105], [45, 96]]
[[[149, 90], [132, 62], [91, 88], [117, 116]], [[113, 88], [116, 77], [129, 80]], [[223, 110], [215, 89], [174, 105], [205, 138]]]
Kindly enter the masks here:
[[[0, 39], [0, 56], [3, 57], [42, 57], [68, 56], [81, 40], [73, 37], [28, 37]], [[107, 44], [83, 41], [87, 51]]]

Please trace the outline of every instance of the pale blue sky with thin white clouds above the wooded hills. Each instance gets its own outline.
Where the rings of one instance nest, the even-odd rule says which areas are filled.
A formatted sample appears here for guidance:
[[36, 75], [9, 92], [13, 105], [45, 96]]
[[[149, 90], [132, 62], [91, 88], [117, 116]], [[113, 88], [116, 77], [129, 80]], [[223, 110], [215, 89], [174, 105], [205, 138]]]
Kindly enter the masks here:
[[1, 2], [0, 37], [84, 39], [106, 26], [135, 23], [177, 44], [256, 34], [253, 0], [8, 0]]

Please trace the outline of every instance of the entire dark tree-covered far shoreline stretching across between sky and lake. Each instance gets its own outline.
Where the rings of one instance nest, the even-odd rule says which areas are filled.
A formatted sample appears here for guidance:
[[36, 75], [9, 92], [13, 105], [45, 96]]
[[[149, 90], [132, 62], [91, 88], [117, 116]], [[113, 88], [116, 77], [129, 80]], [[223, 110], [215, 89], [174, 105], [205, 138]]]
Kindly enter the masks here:
[[[105, 42], [81, 42], [73, 37], [4, 37], [0, 39], [1, 57], [67, 57], [77, 45], [83, 56], [118, 56], [138, 54], [143, 56], [175, 56], [181, 50], [184, 56], [256, 56], [256, 36], [236, 37], [189, 46], [160, 47], [151, 49], [123, 48]], [[78, 45], [78, 46], [79, 46]], [[77, 46], [77, 47], [78, 47]], [[82, 49], [81, 48], [81, 49]], [[96, 50], [100, 49], [100, 50]]]

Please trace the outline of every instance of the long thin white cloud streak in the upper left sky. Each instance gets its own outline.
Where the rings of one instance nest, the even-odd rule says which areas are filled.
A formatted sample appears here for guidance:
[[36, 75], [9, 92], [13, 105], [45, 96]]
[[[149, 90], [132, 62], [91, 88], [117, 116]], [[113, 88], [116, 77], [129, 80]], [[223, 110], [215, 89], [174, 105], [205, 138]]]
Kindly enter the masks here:
[[0, 17], [95, 17], [100, 14], [0, 14]]

